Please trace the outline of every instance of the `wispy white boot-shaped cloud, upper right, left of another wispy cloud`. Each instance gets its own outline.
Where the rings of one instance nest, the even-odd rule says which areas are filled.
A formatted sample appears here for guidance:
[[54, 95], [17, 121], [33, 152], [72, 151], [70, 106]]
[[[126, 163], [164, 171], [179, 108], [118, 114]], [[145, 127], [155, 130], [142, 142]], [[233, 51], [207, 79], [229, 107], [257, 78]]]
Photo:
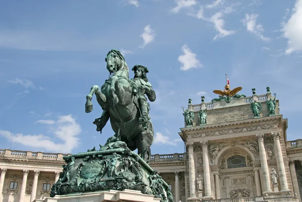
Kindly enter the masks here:
[[218, 34], [215, 35], [213, 41], [215, 41], [217, 38], [223, 38], [235, 34], [235, 31], [233, 30], [224, 29], [225, 21], [222, 19], [222, 17], [223, 17], [223, 13], [217, 12], [210, 18], [210, 21], [214, 24], [215, 30], [218, 32]]

